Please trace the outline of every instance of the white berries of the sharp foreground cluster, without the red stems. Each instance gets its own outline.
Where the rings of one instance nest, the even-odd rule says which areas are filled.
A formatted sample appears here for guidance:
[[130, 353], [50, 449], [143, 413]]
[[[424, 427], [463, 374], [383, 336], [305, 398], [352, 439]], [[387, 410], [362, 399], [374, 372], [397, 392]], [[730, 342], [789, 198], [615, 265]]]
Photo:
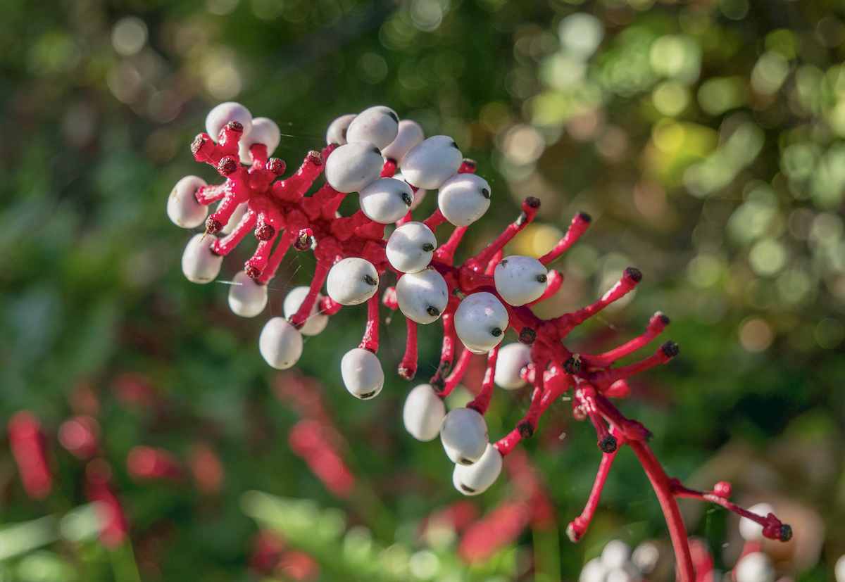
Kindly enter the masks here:
[[[239, 155], [243, 164], [253, 163], [249, 148], [264, 144], [267, 155], [278, 146], [281, 133], [275, 122], [252, 117], [237, 103], [216, 106], [205, 120], [211, 139], [222, 137], [230, 122], [243, 127]], [[425, 138], [423, 129], [410, 120], [400, 120], [386, 106], [370, 107], [357, 115], [344, 115], [332, 122], [326, 143], [334, 145], [325, 160], [325, 179], [340, 193], [358, 193], [361, 210], [380, 224], [401, 222], [390, 234], [384, 255], [400, 276], [395, 286], [398, 307], [417, 324], [431, 324], [447, 307], [450, 290], [444, 276], [432, 264], [437, 238], [422, 222], [406, 221], [429, 189], [438, 190], [440, 213], [454, 226], [469, 226], [484, 215], [490, 205], [490, 185], [472, 173], [457, 173], [463, 157], [455, 141], [445, 135]], [[385, 161], [401, 172], [380, 177]], [[206, 183], [199, 177], [180, 180], [167, 201], [167, 215], [184, 228], [203, 224], [208, 208], [196, 197]], [[247, 203], [242, 203], [223, 233], [242, 220]], [[215, 253], [217, 238], [209, 233], [195, 235], [183, 253], [183, 272], [188, 280], [208, 283], [220, 273], [222, 256]], [[315, 241], [319, 245], [319, 240]], [[512, 306], [537, 301], [547, 286], [547, 269], [532, 257], [508, 257], [496, 265], [495, 290]], [[252, 318], [267, 305], [267, 286], [246, 273], [238, 273], [230, 287], [229, 305], [237, 315]], [[379, 271], [366, 258], [349, 257], [335, 263], [326, 277], [326, 293], [341, 305], [367, 302], [379, 291]], [[308, 287], [297, 287], [284, 300], [284, 317], [271, 318], [259, 337], [259, 351], [271, 367], [286, 369], [296, 364], [303, 352], [303, 335], [317, 335], [328, 316], [320, 313], [321, 296], [306, 323], [297, 329], [290, 318], [308, 296]], [[485, 354], [504, 339], [509, 316], [499, 297], [474, 292], [461, 300], [455, 312], [455, 332], [472, 352]], [[531, 351], [521, 344], [506, 345], [499, 352], [495, 383], [504, 389], [524, 384], [521, 373], [531, 362]], [[356, 348], [341, 362], [346, 389], [359, 399], [373, 398], [384, 385], [384, 372], [372, 351]], [[488, 442], [483, 416], [472, 408], [446, 414], [443, 400], [430, 384], [421, 384], [408, 395], [403, 412], [405, 426], [415, 438], [441, 438], [455, 462], [455, 487], [466, 495], [486, 490], [502, 468], [502, 455]]]

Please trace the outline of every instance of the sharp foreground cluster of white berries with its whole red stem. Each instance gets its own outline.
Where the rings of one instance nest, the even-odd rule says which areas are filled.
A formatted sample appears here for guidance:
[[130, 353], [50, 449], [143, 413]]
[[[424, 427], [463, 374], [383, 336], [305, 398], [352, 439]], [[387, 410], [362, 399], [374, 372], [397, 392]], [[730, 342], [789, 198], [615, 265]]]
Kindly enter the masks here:
[[[302, 355], [303, 334], [319, 334], [328, 316], [342, 306], [367, 302], [363, 340], [343, 356], [341, 376], [357, 398], [375, 397], [384, 385], [384, 372], [375, 356], [379, 302], [383, 301], [390, 309], [401, 310], [407, 320], [406, 353], [399, 367], [402, 378], [411, 379], [417, 372], [417, 324], [438, 319], [443, 323], [438, 370], [428, 383], [412, 389], [403, 420], [419, 440], [440, 437], [455, 462], [453, 481], [458, 491], [477, 495], [490, 487], [501, 472], [503, 457], [521, 439], [532, 437], [549, 405], [573, 389], [573, 416], [590, 420], [602, 451], [584, 514], [568, 529], [573, 541], [586, 530], [623, 443], [635, 451], [657, 492], [682, 579], [692, 578], [692, 562], [676, 497], [700, 498], [753, 515], [727, 501], [727, 484], [720, 483], [714, 492], [694, 492], [669, 479], [647, 446], [651, 433], [623, 416], [610, 400], [629, 393], [626, 378], [678, 354], [678, 346], [669, 341], [641, 362], [612, 367], [659, 335], [669, 321], [665, 315], [656, 313], [643, 335], [602, 354], [574, 353], [562, 343], [575, 326], [634, 289], [642, 277], [639, 270], [626, 269], [599, 301], [575, 312], [548, 320], [532, 313], [533, 304], [559, 290], [563, 275], [548, 271], [547, 265], [586, 231], [588, 215], [575, 215], [565, 236], [542, 257], [504, 257], [505, 244], [537, 214], [539, 201], [528, 198], [515, 222], [476, 257], [458, 266], [455, 249], [467, 228], [487, 211], [491, 192], [488, 182], [474, 174], [475, 162], [463, 159], [450, 137], [426, 139], [416, 122], [400, 121], [385, 106], [370, 107], [332, 122], [324, 150], [310, 152], [292, 176], [276, 181], [285, 163], [270, 157], [281, 139], [275, 122], [253, 118], [246, 107], [230, 102], [212, 109], [205, 125], [208, 133], [200, 133], [191, 150], [196, 160], [215, 166], [226, 182], [208, 185], [199, 177], [185, 177], [167, 202], [167, 213], [178, 226], [205, 226], [183, 254], [188, 280], [214, 280], [223, 257], [253, 231], [258, 245], [235, 278], [229, 304], [234, 313], [254, 317], [264, 310], [267, 283], [291, 247], [311, 249], [317, 259], [311, 285], [292, 290], [284, 302], [284, 317], [271, 318], [264, 325], [259, 351], [270, 366], [292, 367]], [[321, 171], [325, 184], [306, 195]], [[438, 209], [423, 221], [413, 221], [412, 209], [433, 189], [438, 190]], [[337, 210], [347, 193], [358, 193], [360, 210], [341, 216]], [[218, 201], [206, 217], [208, 204]], [[455, 230], [438, 246], [434, 231], [447, 221]], [[395, 230], [384, 240], [385, 226], [390, 224], [395, 224]], [[218, 234], [223, 236], [218, 238]], [[395, 275], [396, 284], [386, 287], [379, 299], [379, 283], [388, 271]], [[321, 295], [324, 286], [327, 296]], [[509, 328], [520, 343], [500, 346]], [[462, 351], [455, 358], [460, 345]], [[461, 381], [473, 354], [488, 356], [481, 391], [466, 407], [446, 414], [443, 399]], [[483, 415], [493, 385], [515, 389], [525, 383], [532, 384], [526, 416], [504, 438], [489, 443]], [[788, 525], [772, 514], [751, 519], [764, 525], [766, 536], [784, 540], [791, 536]]]

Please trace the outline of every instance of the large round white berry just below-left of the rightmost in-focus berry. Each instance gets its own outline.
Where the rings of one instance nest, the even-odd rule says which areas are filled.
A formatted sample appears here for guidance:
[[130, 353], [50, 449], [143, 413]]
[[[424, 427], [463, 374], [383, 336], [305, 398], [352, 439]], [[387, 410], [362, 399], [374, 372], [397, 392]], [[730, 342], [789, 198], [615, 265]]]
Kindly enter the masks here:
[[508, 310], [493, 293], [472, 293], [455, 309], [455, 332], [474, 354], [486, 354], [499, 345], [505, 329]]

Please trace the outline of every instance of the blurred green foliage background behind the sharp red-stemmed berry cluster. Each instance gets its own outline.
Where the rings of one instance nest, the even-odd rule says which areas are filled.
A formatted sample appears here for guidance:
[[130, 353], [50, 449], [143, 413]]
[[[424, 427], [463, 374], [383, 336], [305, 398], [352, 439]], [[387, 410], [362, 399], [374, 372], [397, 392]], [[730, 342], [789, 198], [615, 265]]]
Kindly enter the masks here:
[[[640, 268], [632, 300], [567, 344], [617, 345], [651, 313], [668, 314], [664, 337], [680, 356], [636, 378], [622, 410], [654, 432], [670, 475], [708, 489], [732, 481], [740, 503], [776, 507], [796, 538], [766, 547], [779, 576], [832, 579], [845, 553], [842, 3], [4, 0], [2, 8], [0, 407], [4, 419], [23, 409], [40, 417], [53, 476], [45, 500], [28, 498], [3, 440], [0, 521], [35, 526], [26, 543], [24, 530], [0, 530], [2, 579], [546, 582], [577, 579], [613, 538], [651, 539], [669, 559], [666, 525], [630, 450], [619, 454], [586, 538], [566, 540], [600, 457], [566, 403], [524, 447], [556, 526], [533, 519], [492, 544], [489, 560], [456, 552], [461, 519], [443, 516], [460, 513], [450, 504], [461, 496], [439, 443], [417, 443], [401, 427], [415, 383], [390, 372], [404, 323], [386, 311], [379, 356], [388, 380], [377, 400], [353, 400], [338, 374], [360, 339], [363, 308], [333, 317], [297, 365], [324, 384], [325, 426], [337, 430], [329, 440], [357, 482], [345, 498], [321, 484], [288, 443], [308, 414], [278, 397], [257, 349], [286, 290], [308, 284], [313, 254], [286, 258], [267, 311], [237, 318], [225, 285], [184, 279], [180, 256], [192, 233], [165, 215], [179, 178], [221, 181], [188, 145], [210, 107], [230, 100], [279, 123], [275, 155], [292, 169], [324, 144], [332, 119], [371, 105], [453, 136], [493, 190], [461, 258], [513, 220], [526, 196], [542, 200], [539, 220], [510, 253], [544, 253], [576, 211], [589, 212], [591, 229], [553, 265], [566, 276], [562, 291], [538, 313], [580, 307], [625, 267]], [[248, 246], [226, 260], [221, 280]], [[421, 381], [440, 337], [422, 329]], [[491, 438], [513, 427], [528, 400], [497, 390]], [[85, 464], [57, 439], [74, 414], [99, 422], [129, 545], [104, 549], [90, 532], [68, 536], [33, 521], [87, 507]], [[183, 478], [133, 478], [126, 460], [139, 445], [170, 451]], [[215, 459], [221, 479], [197, 476], [198, 451]], [[477, 519], [524, 503], [514, 481], [503, 476], [457, 507]], [[717, 568], [732, 568], [742, 549], [736, 519], [699, 503], [683, 510]], [[438, 511], [439, 521], [430, 517]], [[270, 531], [285, 549], [264, 547]], [[262, 551], [269, 566], [256, 558]], [[672, 579], [671, 566], [649, 577]]]

